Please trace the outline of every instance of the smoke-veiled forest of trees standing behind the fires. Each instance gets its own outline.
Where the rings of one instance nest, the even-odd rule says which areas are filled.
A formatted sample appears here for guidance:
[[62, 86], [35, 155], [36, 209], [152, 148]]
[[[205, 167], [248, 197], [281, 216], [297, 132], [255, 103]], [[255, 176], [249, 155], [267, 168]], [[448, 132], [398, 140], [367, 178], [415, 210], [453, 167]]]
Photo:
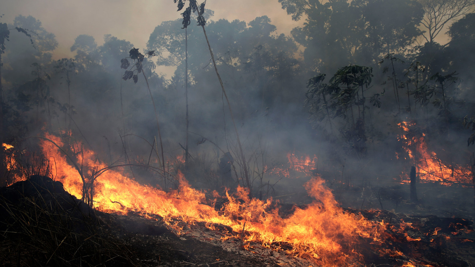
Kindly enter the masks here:
[[[219, 159], [230, 152], [236, 182], [245, 185], [246, 168], [255, 192], [287, 153], [316, 155], [316, 172], [328, 180], [362, 185], [394, 180], [414, 164], [400, 140], [403, 121], [411, 122], [413, 133], [424, 133], [444, 162], [470, 162], [474, 0], [274, 4], [304, 23], [285, 35], [276, 33], [267, 16], [214, 21], [211, 3], [202, 14], [246, 159], [238, 153], [207, 41], [195, 26], [197, 15], [191, 15], [185, 36], [179, 15], [185, 9], [177, 12], [179, 19], [156, 26], [147, 47], [136, 51], [145, 57], [135, 77], [124, 75], [130, 68], [121, 64], [131, 56], [131, 63], [138, 62], [133, 40], [106, 34], [98, 45], [92, 36], [78, 35], [70, 48], [74, 57], [54, 60], [58, 42], [41, 21], [28, 15], [0, 21], [1, 143], [46, 131], [83, 143], [107, 164], [165, 168], [167, 162], [169, 169], [190, 145], [187, 175], [217, 186]], [[170, 0], [161, 11], [175, 6]], [[441, 39], [446, 42], [436, 41]], [[155, 71], [160, 66], [173, 74]], [[150, 177], [156, 174], [128, 171], [155, 182]]]

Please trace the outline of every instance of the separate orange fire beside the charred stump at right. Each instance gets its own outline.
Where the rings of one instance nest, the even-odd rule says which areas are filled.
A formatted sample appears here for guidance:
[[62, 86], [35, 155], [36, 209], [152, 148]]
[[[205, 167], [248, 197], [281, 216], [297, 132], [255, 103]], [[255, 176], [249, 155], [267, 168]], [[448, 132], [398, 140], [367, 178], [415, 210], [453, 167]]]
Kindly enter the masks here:
[[[399, 136], [399, 140], [404, 143], [404, 150], [408, 153], [409, 158], [414, 161], [419, 180], [438, 181], [443, 185], [451, 185], [454, 182], [471, 182], [469, 166], [446, 165], [437, 158], [435, 152], [428, 151], [424, 140], [425, 134], [414, 134], [411, 131], [415, 127], [415, 123], [401, 122], [398, 125], [405, 132], [405, 134]], [[407, 173], [402, 175], [402, 182], [409, 182]]]

